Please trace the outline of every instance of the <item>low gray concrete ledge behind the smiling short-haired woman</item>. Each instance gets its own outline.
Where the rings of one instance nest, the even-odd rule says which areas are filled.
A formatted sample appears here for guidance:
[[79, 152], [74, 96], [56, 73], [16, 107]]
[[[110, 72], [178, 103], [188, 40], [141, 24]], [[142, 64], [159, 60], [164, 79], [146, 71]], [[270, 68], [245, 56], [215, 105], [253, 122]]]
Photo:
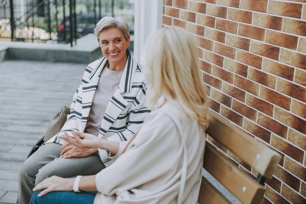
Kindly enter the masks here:
[[[1, 47], [8, 51], [1, 53]], [[130, 51], [133, 52], [134, 40], [130, 43]], [[77, 44], [58, 43], [33, 43], [33, 42], [1, 42], [1, 56], [11, 60], [33, 60], [48, 62], [74, 62], [89, 64], [101, 57], [101, 49], [94, 34], [88, 34], [77, 40]], [[4, 58], [4, 57], [3, 57]]]

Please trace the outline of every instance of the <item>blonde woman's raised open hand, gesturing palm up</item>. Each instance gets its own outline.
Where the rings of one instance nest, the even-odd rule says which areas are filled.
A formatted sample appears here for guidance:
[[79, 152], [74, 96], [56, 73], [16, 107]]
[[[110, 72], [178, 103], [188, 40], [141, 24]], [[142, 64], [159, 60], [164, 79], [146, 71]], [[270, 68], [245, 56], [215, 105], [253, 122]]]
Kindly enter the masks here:
[[102, 139], [94, 135], [88, 133], [80, 133], [80, 132], [71, 132], [71, 133], [73, 137], [69, 136], [67, 133], [64, 133], [63, 135], [59, 136], [59, 138], [79, 148], [99, 148], [101, 146], [100, 143], [102, 142]]

